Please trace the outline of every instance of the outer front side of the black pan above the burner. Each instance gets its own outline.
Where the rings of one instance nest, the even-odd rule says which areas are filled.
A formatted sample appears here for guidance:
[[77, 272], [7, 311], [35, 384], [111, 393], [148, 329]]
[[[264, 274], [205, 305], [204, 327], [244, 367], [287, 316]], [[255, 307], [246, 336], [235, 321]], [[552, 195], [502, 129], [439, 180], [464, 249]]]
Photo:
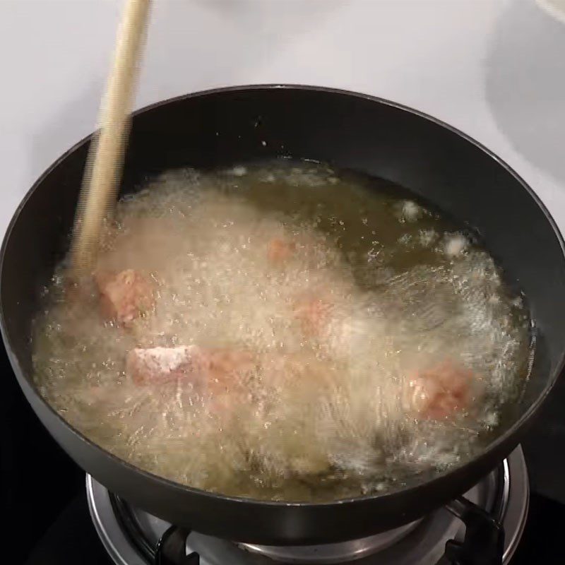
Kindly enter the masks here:
[[129, 465], [85, 441], [18, 378], [41, 422], [73, 460], [111, 492], [170, 523], [227, 540], [261, 545], [318, 545], [364, 537], [415, 521], [470, 489], [518, 444], [513, 435], [470, 468], [433, 488], [334, 504], [269, 504], [185, 489]]

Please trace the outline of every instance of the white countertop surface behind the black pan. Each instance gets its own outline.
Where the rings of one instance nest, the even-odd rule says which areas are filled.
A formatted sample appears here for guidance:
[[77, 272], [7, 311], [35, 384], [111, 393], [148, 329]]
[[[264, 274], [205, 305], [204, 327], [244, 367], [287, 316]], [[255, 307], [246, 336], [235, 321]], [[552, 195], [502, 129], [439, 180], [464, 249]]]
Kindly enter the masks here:
[[[557, 1], [557, 0], [554, 0]], [[0, 0], [0, 230], [95, 127], [118, 0]], [[245, 83], [328, 85], [487, 145], [565, 232], [565, 25], [534, 0], [154, 0], [137, 107]]]

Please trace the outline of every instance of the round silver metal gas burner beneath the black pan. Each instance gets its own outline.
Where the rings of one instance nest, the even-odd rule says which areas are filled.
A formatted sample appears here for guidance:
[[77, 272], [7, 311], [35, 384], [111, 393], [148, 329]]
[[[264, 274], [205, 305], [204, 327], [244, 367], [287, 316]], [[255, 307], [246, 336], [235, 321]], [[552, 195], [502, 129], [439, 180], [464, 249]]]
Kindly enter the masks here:
[[[171, 524], [131, 506], [88, 476], [90, 516], [107, 553], [117, 565], [150, 565], [160, 561], [157, 547], [177, 535]], [[446, 543], [465, 539], [465, 524], [457, 516], [468, 503], [484, 511], [504, 529], [504, 565], [513, 557], [528, 515], [530, 490], [521, 448], [448, 508], [420, 521], [350, 542], [316, 546], [272, 547], [220, 540], [191, 532], [182, 563], [198, 565], [350, 564], [438, 565], [446, 560]], [[458, 509], [460, 511], [458, 511]], [[184, 544], [184, 536], [182, 537]], [[480, 551], [480, 548], [477, 548]], [[184, 553], [187, 557], [184, 559]], [[165, 562], [165, 561], [162, 561]], [[173, 561], [171, 561], [173, 562]], [[477, 563], [481, 563], [480, 556]]]

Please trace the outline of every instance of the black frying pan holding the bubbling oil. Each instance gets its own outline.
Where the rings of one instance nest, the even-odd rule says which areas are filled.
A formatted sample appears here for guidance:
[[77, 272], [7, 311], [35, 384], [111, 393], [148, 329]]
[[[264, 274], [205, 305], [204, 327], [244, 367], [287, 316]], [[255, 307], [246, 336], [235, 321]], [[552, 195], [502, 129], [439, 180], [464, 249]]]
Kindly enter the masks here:
[[528, 297], [538, 340], [521, 402], [511, 407], [492, 444], [468, 463], [416, 487], [328, 504], [202, 492], [138, 470], [92, 444], [40, 398], [30, 358], [30, 321], [40, 288], [68, 249], [89, 141], [42, 175], [11, 221], [0, 257], [0, 321], [33, 409], [71, 457], [112, 492], [169, 522], [230, 540], [336, 542], [423, 516], [469, 489], [518, 444], [564, 363], [565, 256], [552, 218], [508, 166], [446, 124], [373, 97], [295, 86], [212, 90], [136, 113], [124, 191], [168, 167], [232, 165], [280, 155], [357, 169], [412, 189], [475, 228]]

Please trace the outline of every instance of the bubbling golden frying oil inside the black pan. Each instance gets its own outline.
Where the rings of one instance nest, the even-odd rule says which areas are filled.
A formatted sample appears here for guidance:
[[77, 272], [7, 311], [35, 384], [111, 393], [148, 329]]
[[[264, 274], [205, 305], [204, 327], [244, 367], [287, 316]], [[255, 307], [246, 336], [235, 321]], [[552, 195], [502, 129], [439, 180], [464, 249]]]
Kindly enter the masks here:
[[[273, 241], [295, 242], [285, 261]], [[484, 447], [533, 355], [528, 311], [493, 259], [398, 186], [311, 162], [166, 172], [122, 198], [98, 268], [133, 269], [154, 311], [125, 330], [61, 264], [34, 323], [35, 383], [69, 424], [144, 470], [232, 496], [327, 501], [388, 492]], [[331, 304], [304, 331], [304, 299]], [[182, 381], [139, 386], [134, 347], [223, 347], [258, 362], [218, 406]], [[454, 359], [482, 391], [450, 418], [403, 391]], [[228, 397], [230, 398], [230, 397]]]

